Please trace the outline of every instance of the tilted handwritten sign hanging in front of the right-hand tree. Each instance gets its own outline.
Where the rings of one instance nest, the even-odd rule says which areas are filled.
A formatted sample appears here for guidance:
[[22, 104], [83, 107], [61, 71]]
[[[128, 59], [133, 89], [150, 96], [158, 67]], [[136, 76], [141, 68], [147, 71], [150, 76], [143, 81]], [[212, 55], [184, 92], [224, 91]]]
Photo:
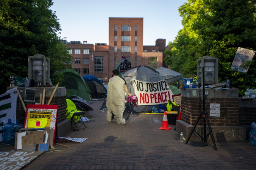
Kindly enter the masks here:
[[255, 54], [255, 51], [253, 51], [253, 50], [238, 47], [238, 49], [236, 51], [235, 58], [234, 58], [233, 63], [231, 65], [231, 68], [233, 70], [236, 69], [240, 72], [247, 73], [247, 71], [249, 69], [249, 66], [247, 68], [243, 68], [242, 65], [246, 61], [252, 61], [252, 59], [254, 57], [254, 54]]

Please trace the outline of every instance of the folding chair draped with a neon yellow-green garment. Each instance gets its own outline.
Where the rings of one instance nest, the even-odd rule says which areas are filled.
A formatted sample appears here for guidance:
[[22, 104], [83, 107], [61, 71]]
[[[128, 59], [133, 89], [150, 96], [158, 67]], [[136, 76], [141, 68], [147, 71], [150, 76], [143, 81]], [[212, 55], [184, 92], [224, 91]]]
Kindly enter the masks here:
[[[76, 126], [77, 131], [79, 131], [76, 123], [79, 123], [77, 122], [79, 119], [82, 120], [81, 115], [84, 115], [85, 111], [77, 110], [76, 105], [70, 99], [66, 99], [66, 102], [67, 102], [66, 119], [71, 119], [71, 125], [73, 122], [74, 125]], [[83, 121], [82, 123], [84, 124]], [[84, 124], [84, 127], [87, 128], [85, 124]]]

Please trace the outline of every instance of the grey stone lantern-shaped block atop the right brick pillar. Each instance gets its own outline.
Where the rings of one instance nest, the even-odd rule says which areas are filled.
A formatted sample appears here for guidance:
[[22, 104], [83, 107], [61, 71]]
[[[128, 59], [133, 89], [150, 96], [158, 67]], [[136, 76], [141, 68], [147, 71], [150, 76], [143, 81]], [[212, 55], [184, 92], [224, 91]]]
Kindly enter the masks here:
[[202, 86], [202, 68], [204, 67], [204, 84], [218, 83], [218, 58], [204, 56], [197, 61], [197, 79]]

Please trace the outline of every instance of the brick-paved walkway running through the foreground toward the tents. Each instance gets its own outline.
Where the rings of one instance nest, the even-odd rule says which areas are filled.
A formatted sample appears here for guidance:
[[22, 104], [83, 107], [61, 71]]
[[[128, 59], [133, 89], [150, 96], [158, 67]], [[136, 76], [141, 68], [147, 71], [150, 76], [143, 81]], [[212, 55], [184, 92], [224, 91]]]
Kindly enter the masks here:
[[[100, 109], [102, 101], [90, 105]], [[247, 142], [216, 142], [191, 147], [174, 130], [160, 130], [163, 115], [132, 114], [126, 125], [106, 122], [106, 112], [90, 111], [87, 129], [66, 137], [88, 138], [83, 143], [56, 145], [23, 170], [242, 170], [256, 169], [256, 147]], [[82, 126], [81, 126], [82, 127]], [[190, 142], [190, 141], [189, 141]]]

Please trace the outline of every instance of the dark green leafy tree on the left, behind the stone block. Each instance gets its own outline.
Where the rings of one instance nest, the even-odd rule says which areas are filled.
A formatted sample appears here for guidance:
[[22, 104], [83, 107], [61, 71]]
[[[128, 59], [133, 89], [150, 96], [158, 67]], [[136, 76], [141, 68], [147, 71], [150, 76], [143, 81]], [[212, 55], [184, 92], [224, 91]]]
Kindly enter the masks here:
[[50, 58], [53, 84], [62, 80], [59, 72], [71, 68], [71, 58], [62, 44], [60, 24], [50, 7], [52, 0], [0, 1], [0, 94], [10, 85], [10, 76], [28, 76], [28, 56]]

